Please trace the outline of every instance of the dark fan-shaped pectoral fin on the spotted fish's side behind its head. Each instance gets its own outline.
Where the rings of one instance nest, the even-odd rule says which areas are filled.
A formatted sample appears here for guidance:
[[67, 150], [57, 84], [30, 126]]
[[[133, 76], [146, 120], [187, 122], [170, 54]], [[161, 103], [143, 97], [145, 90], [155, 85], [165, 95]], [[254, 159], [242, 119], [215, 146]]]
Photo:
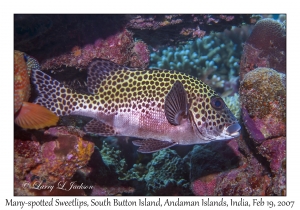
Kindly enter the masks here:
[[172, 125], [180, 125], [183, 117], [187, 116], [187, 94], [181, 82], [176, 81], [165, 98], [165, 115]]

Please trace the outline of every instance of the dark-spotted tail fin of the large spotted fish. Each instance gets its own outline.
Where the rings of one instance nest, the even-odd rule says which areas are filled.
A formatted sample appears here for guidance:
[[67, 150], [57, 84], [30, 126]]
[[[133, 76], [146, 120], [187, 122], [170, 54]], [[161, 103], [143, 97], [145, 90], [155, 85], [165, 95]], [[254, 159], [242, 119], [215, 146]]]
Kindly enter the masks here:
[[32, 71], [31, 79], [38, 92], [34, 103], [46, 107], [57, 116], [75, 111], [80, 94], [40, 70]]

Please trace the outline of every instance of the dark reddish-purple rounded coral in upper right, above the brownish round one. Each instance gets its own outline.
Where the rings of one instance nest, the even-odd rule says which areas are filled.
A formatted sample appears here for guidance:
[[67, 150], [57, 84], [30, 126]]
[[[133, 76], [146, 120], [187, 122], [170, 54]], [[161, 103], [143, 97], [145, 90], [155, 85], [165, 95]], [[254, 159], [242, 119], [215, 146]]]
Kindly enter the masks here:
[[286, 72], [285, 25], [270, 18], [259, 20], [247, 39], [240, 63], [240, 79], [257, 67]]

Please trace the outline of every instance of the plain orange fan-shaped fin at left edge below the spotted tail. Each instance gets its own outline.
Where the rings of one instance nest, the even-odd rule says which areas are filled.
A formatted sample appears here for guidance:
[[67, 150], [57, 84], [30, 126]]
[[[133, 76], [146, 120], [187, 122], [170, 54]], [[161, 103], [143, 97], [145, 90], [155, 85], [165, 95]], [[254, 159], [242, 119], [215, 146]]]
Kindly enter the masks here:
[[54, 126], [59, 118], [43, 106], [29, 102], [23, 102], [15, 123], [25, 129], [40, 129]]

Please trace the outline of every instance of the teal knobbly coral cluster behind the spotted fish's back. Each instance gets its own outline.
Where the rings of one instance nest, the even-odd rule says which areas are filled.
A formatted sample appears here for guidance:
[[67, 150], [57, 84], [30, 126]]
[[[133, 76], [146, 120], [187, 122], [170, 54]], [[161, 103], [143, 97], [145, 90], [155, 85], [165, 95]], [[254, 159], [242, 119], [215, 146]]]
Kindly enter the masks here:
[[214, 72], [222, 79], [229, 80], [239, 70], [239, 52], [236, 52], [236, 48], [236, 44], [227, 36], [213, 33], [182, 46], [151, 53], [150, 67], [178, 70], [199, 78]]

